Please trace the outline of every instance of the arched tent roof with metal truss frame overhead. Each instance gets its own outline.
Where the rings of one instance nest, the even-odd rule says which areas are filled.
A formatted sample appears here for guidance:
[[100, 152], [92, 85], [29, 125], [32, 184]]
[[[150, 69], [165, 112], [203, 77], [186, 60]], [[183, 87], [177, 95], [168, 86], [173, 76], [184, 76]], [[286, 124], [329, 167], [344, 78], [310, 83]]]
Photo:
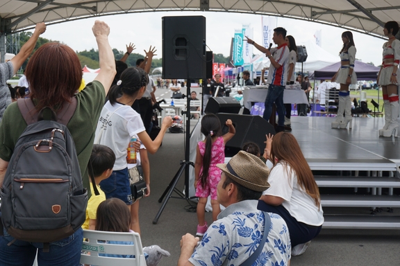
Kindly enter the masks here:
[[41, 21], [57, 24], [87, 17], [155, 11], [244, 12], [315, 21], [383, 36], [386, 21], [400, 17], [398, 0], [6, 0], [0, 2], [0, 31], [15, 33]]

